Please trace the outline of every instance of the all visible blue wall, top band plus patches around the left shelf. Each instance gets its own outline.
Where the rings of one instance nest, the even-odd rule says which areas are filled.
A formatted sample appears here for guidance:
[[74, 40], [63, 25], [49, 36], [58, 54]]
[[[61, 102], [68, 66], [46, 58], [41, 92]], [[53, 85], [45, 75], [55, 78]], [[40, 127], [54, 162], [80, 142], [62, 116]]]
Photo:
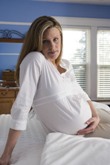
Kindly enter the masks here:
[[[86, 17], [86, 18], [107, 18], [110, 19], [110, 6], [41, 2], [31, 0], [0, 0], [0, 21], [7, 22], [32, 22], [41, 15]], [[28, 26], [0, 25], [1, 29], [14, 29], [26, 33]], [[6, 48], [0, 44], [0, 53]], [[19, 53], [14, 51], [10, 53]], [[18, 55], [0, 55], [0, 78], [4, 69], [14, 69]]]

